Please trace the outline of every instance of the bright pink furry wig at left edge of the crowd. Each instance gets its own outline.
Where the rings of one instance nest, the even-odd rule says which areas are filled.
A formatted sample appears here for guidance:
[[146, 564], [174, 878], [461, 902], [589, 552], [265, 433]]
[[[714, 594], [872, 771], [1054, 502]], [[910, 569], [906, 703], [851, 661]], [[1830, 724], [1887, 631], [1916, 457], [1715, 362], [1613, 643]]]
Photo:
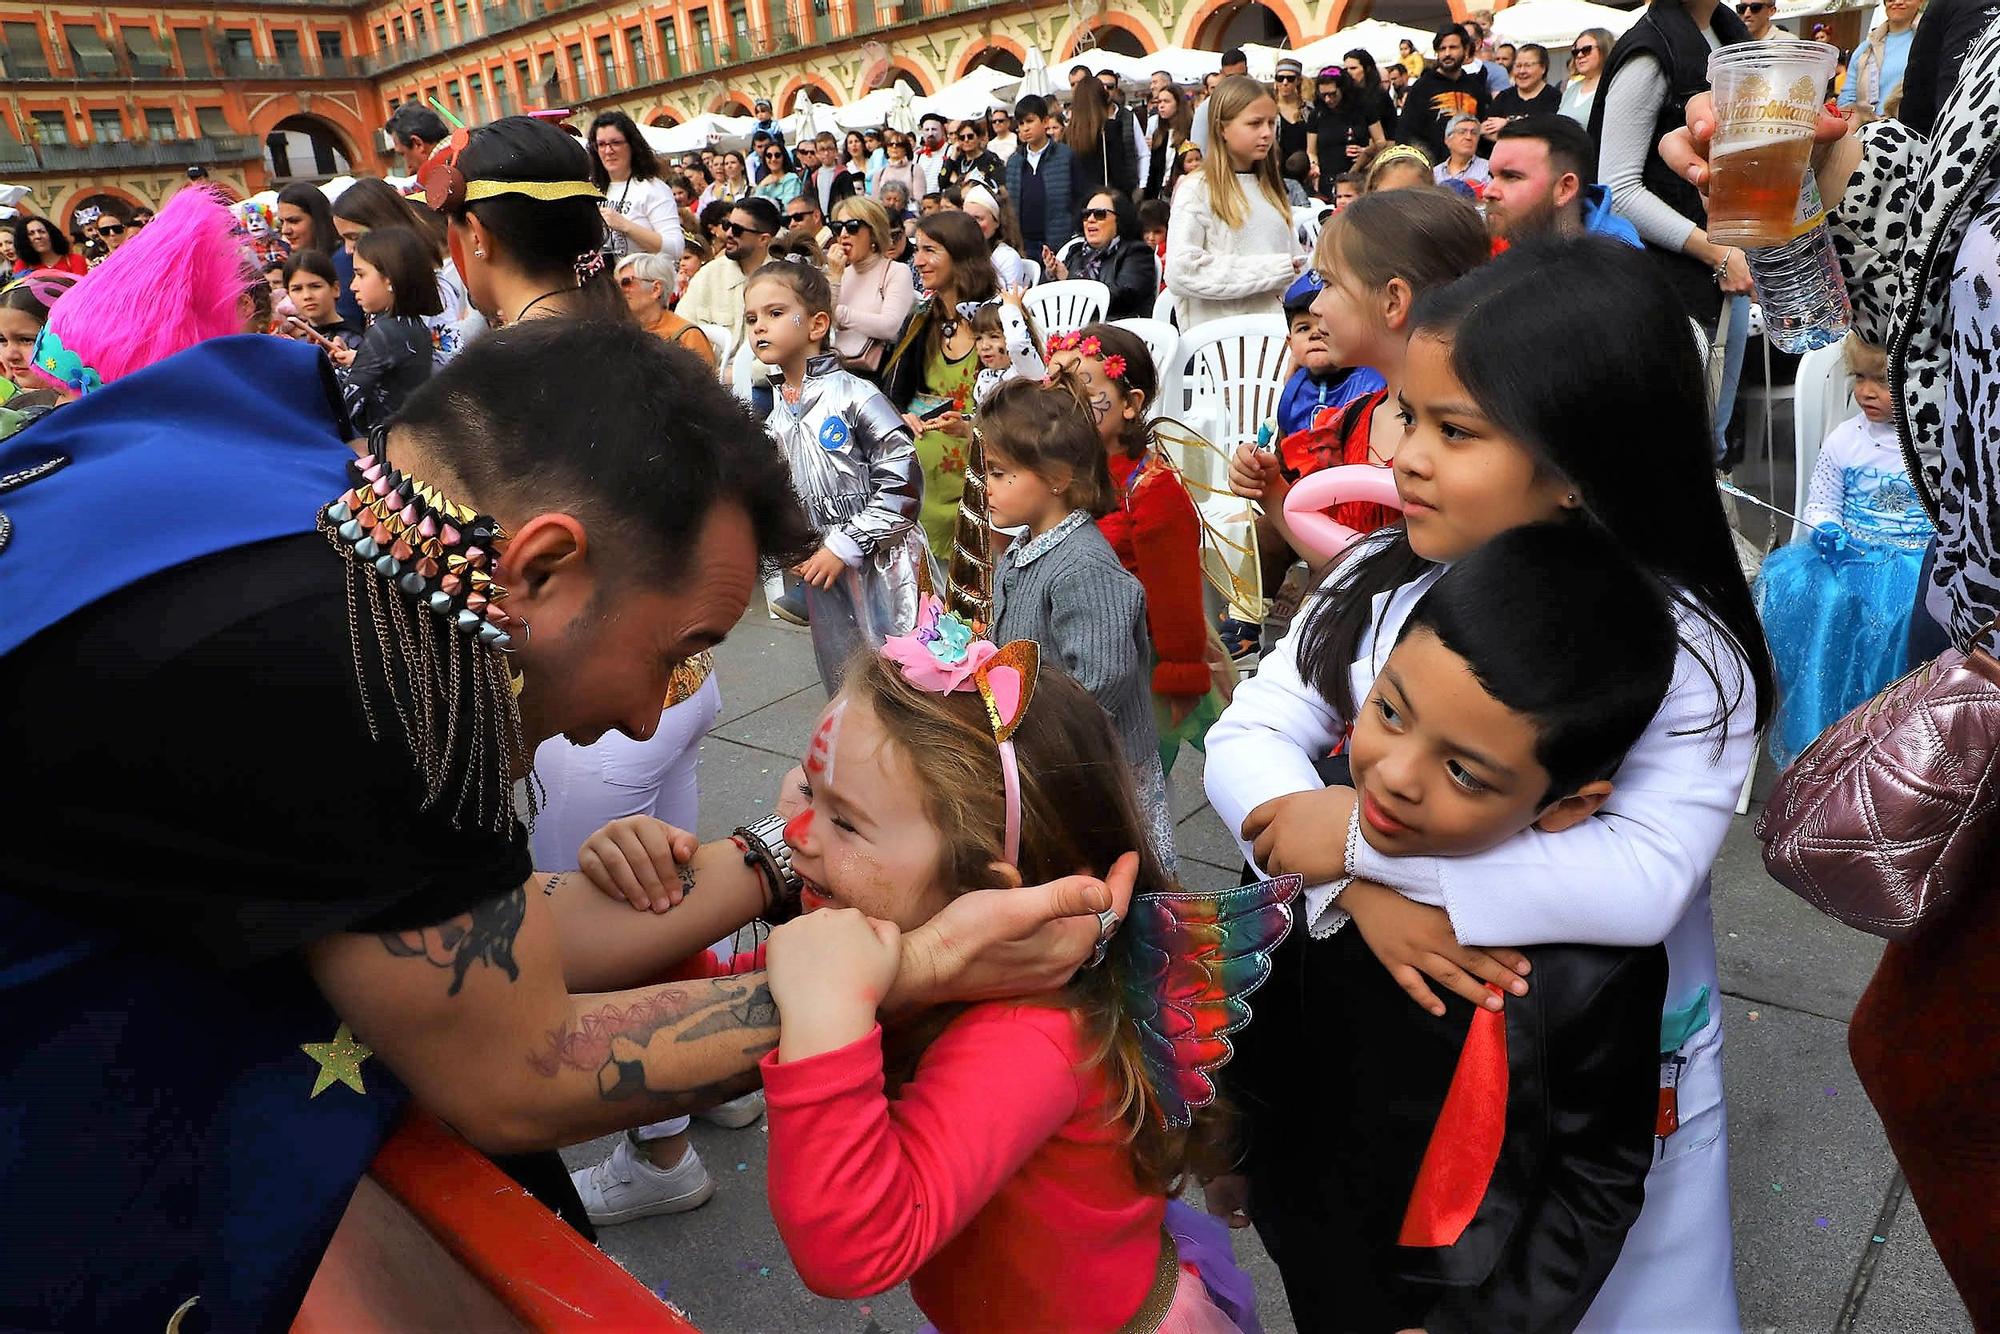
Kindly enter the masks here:
[[[252, 282], [264, 278], [228, 200], [188, 186], [50, 306], [44, 332], [110, 384], [204, 338], [244, 332], [238, 302]], [[78, 388], [40, 358], [36, 370], [58, 388]]]

